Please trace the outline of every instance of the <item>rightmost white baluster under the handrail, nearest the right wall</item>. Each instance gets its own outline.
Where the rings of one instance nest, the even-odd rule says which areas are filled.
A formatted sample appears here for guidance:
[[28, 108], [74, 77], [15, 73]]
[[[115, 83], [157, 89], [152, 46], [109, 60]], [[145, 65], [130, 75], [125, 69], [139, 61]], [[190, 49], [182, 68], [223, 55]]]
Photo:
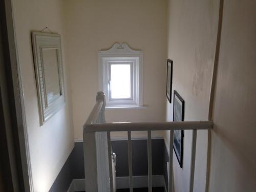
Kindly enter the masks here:
[[192, 133], [192, 151], [191, 151], [191, 161], [190, 161], [191, 165], [190, 165], [189, 192], [193, 192], [193, 190], [194, 190], [196, 145], [197, 145], [197, 130], [193, 130], [193, 133]]

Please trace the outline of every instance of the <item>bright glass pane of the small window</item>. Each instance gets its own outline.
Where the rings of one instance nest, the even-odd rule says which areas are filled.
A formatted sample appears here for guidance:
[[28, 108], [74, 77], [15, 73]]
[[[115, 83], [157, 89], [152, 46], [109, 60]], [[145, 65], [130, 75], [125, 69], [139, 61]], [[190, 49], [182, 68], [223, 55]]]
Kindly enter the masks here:
[[111, 98], [131, 98], [131, 65], [111, 65]]

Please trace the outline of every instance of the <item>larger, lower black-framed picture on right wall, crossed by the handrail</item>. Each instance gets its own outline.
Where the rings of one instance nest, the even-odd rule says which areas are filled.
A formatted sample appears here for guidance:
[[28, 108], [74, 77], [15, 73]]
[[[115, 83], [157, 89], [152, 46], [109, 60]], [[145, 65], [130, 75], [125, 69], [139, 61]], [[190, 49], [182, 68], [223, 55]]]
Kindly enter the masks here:
[[[174, 91], [174, 111], [173, 111], [173, 120], [174, 121], [184, 121], [184, 106], [185, 101], [178, 94], [177, 91]], [[179, 161], [180, 167], [182, 168], [183, 160], [183, 130], [174, 131], [174, 152]]]

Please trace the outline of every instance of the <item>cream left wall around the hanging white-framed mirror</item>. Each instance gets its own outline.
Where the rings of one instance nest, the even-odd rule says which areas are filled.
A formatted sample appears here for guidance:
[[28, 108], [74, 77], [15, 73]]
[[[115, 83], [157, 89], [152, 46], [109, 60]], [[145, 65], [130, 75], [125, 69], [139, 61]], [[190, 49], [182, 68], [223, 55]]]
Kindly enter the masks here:
[[[13, 0], [18, 59], [24, 89], [25, 113], [34, 191], [49, 191], [73, 145], [68, 68], [65, 61], [63, 2], [61, 0]], [[37, 90], [31, 31], [48, 26], [62, 37], [66, 105], [43, 126], [39, 126]]]

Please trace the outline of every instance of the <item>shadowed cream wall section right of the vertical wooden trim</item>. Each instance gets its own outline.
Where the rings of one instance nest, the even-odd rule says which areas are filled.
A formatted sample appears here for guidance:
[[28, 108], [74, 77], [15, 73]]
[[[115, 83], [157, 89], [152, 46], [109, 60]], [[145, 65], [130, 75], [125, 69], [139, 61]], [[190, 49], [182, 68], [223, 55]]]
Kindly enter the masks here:
[[256, 2], [224, 0], [210, 191], [256, 191]]

